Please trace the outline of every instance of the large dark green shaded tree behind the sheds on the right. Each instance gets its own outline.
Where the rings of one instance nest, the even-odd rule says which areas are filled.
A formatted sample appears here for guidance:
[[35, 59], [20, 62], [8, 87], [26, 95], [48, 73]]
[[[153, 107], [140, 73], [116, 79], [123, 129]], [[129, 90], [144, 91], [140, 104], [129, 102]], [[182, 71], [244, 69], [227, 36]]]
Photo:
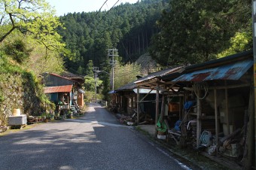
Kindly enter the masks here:
[[[247, 26], [246, 11], [237, 14], [242, 1], [171, 1], [157, 22], [151, 54], [162, 65], [181, 65], [215, 59], [230, 46], [230, 38]], [[245, 8], [242, 8], [245, 10]], [[242, 20], [243, 19], [243, 20]]]

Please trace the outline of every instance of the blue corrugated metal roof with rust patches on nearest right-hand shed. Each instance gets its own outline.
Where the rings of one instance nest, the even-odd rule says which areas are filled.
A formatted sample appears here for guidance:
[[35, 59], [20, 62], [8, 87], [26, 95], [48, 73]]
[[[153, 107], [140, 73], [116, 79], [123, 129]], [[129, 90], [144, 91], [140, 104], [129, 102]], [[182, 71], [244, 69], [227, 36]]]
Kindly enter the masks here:
[[182, 74], [172, 81], [239, 80], [253, 65], [252, 59]]

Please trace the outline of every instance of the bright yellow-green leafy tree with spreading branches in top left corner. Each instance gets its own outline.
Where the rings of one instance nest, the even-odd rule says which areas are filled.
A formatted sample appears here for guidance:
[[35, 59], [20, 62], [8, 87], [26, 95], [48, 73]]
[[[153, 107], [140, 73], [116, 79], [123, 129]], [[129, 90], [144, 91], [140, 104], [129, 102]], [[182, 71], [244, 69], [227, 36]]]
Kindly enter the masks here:
[[0, 0], [0, 7], [0, 42], [14, 30], [19, 30], [32, 35], [47, 50], [66, 51], [65, 44], [60, 42], [61, 36], [56, 32], [62, 24], [45, 0]]

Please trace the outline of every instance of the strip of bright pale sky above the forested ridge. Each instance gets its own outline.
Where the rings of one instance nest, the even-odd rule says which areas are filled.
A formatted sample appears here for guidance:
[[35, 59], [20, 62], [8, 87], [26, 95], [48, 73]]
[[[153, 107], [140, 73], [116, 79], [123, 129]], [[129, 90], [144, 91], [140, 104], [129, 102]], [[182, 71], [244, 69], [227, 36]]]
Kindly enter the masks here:
[[[46, 0], [56, 9], [58, 16], [74, 12], [93, 12], [99, 11], [102, 7], [102, 11], [108, 11], [118, 0]], [[129, 2], [130, 4], [138, 2], [138, 0], [119, 0], [117, 5], [120, 3]]]

